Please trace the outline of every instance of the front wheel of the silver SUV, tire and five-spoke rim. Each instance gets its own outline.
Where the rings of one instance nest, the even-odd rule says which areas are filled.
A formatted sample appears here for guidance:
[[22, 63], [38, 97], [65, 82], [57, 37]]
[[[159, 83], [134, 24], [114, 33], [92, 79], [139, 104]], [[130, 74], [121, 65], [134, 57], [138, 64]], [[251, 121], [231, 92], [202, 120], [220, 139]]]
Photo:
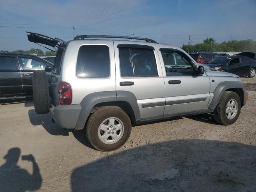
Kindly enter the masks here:
[[240, 110], [241, 100], [238, 94], [226, 91], [214, 110], [214, 119], [219, 124], [231, 125], [238, 119]]

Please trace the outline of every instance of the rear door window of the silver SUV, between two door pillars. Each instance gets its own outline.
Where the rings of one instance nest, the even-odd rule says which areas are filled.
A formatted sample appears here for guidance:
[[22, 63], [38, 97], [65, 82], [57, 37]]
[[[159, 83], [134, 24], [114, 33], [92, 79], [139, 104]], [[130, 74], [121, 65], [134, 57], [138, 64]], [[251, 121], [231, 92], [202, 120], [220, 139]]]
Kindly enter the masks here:
[[158, 76], [152, 49], [120, 47], [119, 60], [122, 77]]

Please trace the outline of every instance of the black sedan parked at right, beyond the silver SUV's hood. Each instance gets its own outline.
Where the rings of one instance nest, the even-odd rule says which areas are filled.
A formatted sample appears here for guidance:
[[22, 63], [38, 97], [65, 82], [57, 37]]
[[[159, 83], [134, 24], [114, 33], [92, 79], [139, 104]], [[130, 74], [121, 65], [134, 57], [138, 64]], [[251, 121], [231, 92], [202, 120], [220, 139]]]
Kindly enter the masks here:
[[222, 71], [238, 76], [254, 77], [256, 74], [256, 60], [246, 56], [222, 56], [208, 62], [212, 71]]

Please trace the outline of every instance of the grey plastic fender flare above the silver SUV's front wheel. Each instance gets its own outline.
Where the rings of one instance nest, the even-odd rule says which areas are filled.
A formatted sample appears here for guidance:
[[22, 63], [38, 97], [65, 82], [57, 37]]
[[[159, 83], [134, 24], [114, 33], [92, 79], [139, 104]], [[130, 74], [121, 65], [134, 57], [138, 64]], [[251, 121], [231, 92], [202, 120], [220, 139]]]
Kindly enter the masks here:
[[215, 109], [215, 107], [217, 106], [217, 104], [218, 104], [220, 98], [222, 97], [222, 95], [224, 94], [224, 92], [228, 89], [234, 89], [234, 88], [241, 88], [243, 90], [243, 103], [242, 103], [242, 105], [244, 105], [246, 103], [246, 100], [245, 100], [246, 92], [244, 90], [244, 85], [242, 84], [242, 82], [239, 82], [239, 81], [225, 81], [225, 82], [221, 82], [220, 84], [218, 84], [218, 86], [214, 90], [214, 92], [213, 92], [214, 97], [213, 97], [212, 102], [211, 102], [211, 104], [208, 108], [209, 109]]

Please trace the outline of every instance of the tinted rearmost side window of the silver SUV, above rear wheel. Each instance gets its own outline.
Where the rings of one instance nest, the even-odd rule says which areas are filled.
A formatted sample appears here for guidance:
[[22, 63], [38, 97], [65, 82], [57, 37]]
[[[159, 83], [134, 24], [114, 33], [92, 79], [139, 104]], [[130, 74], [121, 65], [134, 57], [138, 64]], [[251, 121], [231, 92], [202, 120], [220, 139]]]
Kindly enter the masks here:
[[84, 45], [79, 48], [76, 75], [83, 78], [110, 76], [109, 48], [106, 45]]

